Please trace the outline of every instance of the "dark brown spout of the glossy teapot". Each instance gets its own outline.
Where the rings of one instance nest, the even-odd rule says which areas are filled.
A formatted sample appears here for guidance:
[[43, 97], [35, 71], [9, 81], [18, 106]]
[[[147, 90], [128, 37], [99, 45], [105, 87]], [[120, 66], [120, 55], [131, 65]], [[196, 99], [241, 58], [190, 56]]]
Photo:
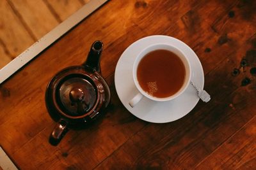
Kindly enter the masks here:
[[103, 43], [102, 41], [95, 41], [88, 53], [86, 62], [84, 62], [84, 67], [88, 71], [91, 72], [100, 72], [100, 56], [103, 50]]

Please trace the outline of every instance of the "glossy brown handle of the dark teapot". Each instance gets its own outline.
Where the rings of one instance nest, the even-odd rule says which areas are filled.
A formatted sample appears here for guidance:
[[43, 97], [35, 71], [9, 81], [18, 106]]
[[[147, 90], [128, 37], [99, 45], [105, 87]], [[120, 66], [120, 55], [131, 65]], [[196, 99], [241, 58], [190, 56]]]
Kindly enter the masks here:
[[68, 124], [64, 119], [59, 120], [59, 122], [55, 125], [49, 139], [49, 143], [51, 143], [51, 145], [56, 146], [58, 143], [60, 143], [63, 136], [68, 132], [67, 125]]

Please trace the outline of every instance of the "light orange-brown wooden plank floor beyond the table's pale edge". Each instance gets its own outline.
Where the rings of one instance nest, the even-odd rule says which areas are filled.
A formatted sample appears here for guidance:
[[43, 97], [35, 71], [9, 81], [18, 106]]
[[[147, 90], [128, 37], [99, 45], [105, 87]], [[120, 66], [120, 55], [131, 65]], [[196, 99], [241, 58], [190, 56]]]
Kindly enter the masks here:
[[1, 1], [0, 69], [89, 1]]

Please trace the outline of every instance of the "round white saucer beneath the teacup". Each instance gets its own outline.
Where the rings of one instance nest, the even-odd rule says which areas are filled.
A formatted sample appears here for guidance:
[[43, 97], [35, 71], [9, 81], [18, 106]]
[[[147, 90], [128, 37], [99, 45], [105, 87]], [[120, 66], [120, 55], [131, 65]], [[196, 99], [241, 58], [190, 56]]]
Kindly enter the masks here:
[[115, 70], [116, 92], [125, 108], [134, 116], [152, 123], [172, 122], [187, 115], [198, 103], [199, 97], [192, 85], [189, 85], [184, 94], [172, 101], [156, 102], [143, 97], [134, 108], [128, 104], [132, 97], [138, 94], [132, 78], [133, 62], [141, 50], [154, 43], [170, 44], [182, 50], [191, 63], [191, 81], [195, 82], [199, 89], [204, 88], [202, 64], [196, 53], [188, 45], [170, 36], [148, 36], [132, 43], [122, 53]]

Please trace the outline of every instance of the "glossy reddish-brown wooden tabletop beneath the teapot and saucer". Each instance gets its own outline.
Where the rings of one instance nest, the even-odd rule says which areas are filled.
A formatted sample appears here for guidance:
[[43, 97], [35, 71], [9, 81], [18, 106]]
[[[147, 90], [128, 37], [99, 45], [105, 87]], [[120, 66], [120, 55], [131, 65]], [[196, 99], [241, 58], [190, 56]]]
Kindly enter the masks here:
[[[255, 168], [255, 8], [245, 0], [109, 1], [0, 85], [0, 145], [20, 169]], [[115, 90], [122, 52], [153, 34], [191, 46], [212, 97], [168, 124], [134, 117]], [[96, 39], [105, 45], [101, 69], [111, 106], [95, 124], [51, 146], [47, 83], [61, 69], [82, 64]]]

